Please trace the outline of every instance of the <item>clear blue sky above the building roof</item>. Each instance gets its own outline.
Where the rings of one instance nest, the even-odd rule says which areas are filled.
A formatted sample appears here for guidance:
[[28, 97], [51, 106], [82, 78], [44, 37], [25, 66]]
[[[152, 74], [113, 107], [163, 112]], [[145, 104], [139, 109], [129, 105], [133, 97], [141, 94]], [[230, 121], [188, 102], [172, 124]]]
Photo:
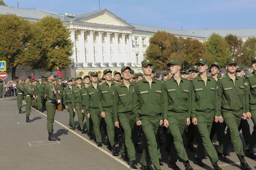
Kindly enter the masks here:
[[[11, 7], [40, 8], [55, 13], [87, 13], [99, 10], [99, 0], [4, 0]], [[249, 29], [256, 28], [255, 0], [100, 0], [128, 23], [163, 28]]]

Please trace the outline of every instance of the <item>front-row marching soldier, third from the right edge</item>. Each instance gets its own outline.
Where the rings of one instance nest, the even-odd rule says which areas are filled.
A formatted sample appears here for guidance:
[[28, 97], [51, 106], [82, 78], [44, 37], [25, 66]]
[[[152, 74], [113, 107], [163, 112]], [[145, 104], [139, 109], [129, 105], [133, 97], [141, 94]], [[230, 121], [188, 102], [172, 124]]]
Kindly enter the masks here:
[[[218, 155], [210, 140], [210, 132], [212, 128], [212, 120], [222, 122], [222, 116], [218, 112], [218, 95], [217, 85], [214, 78], [207, 76], [207, 59], [198, 59], [199, 75], [191, 79], [189, 90], [189, 113], [192, 123], [195, 126], [197, 150], [195, 155], [195, 164], [205, 166], [202, 162], [204, 157], [204, 149], [208, 154], [214, 170], [220, 170], [217, 165]], [[199, 137], [201, 136], [201, 137]]]

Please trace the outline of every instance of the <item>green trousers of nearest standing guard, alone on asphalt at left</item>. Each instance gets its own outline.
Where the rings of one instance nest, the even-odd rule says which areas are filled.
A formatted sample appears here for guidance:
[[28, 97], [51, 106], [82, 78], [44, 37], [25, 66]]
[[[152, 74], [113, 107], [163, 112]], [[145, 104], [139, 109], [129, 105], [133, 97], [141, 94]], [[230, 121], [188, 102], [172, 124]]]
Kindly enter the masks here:
[[50, 101], [46, 101], [45, 107], [47, 111], [47, 130], [49, 133], [53, 133], [53, 122], [56, 113], [56, 104]]

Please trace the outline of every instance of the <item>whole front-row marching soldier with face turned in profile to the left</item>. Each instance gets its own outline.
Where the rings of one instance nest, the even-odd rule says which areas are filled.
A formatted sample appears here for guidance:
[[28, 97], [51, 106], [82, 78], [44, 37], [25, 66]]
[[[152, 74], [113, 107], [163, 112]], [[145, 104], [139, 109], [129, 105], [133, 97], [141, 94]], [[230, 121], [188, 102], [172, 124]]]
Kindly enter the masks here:
[[181, 61], [173, 59], [167, 64], [170, 67], [172, 78], [163, 83], [162, 93], [164, 95], [164, 126], [169, 127], [173, 137], [175, 149], [171, 149], [170, 162], [168, 167], [179, 169], [176, 165], [178, 154], [186, 170], [193, 170], [189, 165], [188, 155], [183, 145], [182, 135], [186, 124], [190, 124], [190, 115], [188, 114], [188, 93], [190, 88], [189, 79], [180, 77]]

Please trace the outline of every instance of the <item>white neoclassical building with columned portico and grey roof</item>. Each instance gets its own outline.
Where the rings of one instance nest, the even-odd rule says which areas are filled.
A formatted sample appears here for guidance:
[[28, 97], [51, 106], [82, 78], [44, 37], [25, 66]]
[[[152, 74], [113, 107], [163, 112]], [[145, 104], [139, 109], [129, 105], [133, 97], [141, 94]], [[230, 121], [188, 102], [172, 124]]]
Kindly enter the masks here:
[[[135, 72], [140, 71], [140, 62], [145, 58], [145, 51], [149, 46], [149, 39], [158, 30], [166, 31], [183, 38], [191, 37], [205, 41], [212, 33], [225, 37], [235, 34], [244, 41], [248, 37], [256, 36], [256, 29], [237, 30], [175, 30], [129, 24], [107, 9], [84, 14], [57, 14], [41, 9], [22, 9], [0, 6], [0, 13], [14, 13], [31, 22], [49, 15], [60, 18], [70, 30], [70, 39], [74, 42], [72, 59], [77, 69], [62, 70], [63, 77], [90, 75], [91, 71], [98, 71], [99, 77], [103, 70], [110, 68], [113, 72], [120, 71], [124, 65], [130, 66]], [[76, 68], [76, 67], [74, 67]], [[31, 76], [31, 73], [43, 76], [44, 71], [18, 68], [16, 77]], [[10, 79], [9, 75], [9, 79]], [[8, 80], [8, 78], [7, 78]]]

